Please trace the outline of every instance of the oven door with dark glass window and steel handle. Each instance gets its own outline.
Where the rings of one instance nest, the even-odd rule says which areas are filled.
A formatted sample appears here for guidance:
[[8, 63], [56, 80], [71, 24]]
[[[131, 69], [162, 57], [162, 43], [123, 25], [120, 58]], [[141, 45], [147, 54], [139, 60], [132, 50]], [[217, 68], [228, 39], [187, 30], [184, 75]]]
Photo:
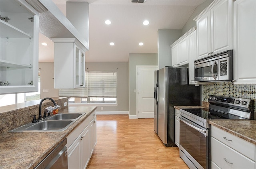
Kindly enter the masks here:
[[180, 150], [186, 155], [186, 160], [189, 159], [198, 169], [209, 169], [208, 131], [180, 116]]

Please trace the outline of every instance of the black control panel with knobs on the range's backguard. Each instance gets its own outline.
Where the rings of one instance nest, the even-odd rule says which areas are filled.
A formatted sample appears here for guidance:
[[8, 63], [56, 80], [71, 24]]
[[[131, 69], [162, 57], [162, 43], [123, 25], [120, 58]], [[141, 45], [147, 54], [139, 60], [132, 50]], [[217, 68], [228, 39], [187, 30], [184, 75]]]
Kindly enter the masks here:
[[222, 103], [233, 106], [240, 106], [248, 108], [250, 106], [250, 102], [252, 99], [248, 98], [235, 98], [235, 97], [226, 97], [226, 96], [214, 96], [210, 95], [208, 98], [208, 102], [212, 103]]

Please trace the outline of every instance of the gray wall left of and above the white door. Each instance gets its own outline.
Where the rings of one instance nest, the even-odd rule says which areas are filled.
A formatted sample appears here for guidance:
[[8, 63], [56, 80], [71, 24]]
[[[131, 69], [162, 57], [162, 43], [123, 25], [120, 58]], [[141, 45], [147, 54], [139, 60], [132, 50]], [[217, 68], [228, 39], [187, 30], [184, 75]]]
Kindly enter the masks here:
[[157, 66], [157, 53], [129, 53], [129, 113], [136, 115], [136, 66]]

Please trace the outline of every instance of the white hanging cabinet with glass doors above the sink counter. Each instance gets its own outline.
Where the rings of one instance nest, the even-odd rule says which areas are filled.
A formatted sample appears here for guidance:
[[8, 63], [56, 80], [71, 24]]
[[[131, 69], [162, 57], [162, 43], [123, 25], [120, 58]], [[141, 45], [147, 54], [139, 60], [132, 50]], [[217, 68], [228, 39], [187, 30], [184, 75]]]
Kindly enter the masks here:
[[54, 88], [85, 87], [86, 48], [74, 38], [54, 42]]

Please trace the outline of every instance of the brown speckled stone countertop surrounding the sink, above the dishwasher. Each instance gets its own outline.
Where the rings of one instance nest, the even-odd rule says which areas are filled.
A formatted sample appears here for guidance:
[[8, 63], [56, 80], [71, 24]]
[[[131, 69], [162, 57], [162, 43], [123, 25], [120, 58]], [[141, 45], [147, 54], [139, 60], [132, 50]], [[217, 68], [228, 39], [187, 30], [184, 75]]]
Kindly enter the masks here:
[[86, 113], [63, 132], [3, 132], [0, 134], [0, 168], [33, 169], [96, 108], [72, 106], [62, 109], [59, 113]]

